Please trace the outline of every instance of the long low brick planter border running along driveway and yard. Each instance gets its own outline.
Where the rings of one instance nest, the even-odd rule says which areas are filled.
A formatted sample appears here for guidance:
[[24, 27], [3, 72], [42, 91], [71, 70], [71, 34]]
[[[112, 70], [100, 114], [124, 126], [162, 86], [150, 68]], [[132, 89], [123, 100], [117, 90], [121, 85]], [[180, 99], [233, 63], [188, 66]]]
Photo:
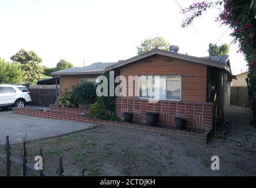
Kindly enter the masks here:
[[180, 137], [182, 139], [190, 139], [190, 140], [195, 140], [197, 142], [204, 142], [204, 143], [207, 143], [210, 136], [210, 132], [211, 132], [211, 130], [206, 130], [204, 133], [193, 133], [193, 132], [187, 132], [185, 130], [171, 130], [171, 129], [164, 129], [161, 127], [149, 127], [149, 126], [137, 125], [134, 123], [131, 124], [131, 123], [113, 122], [111, 120], [98, 120], [98, 119], [93, 119], [89, 117], [59, 114], [59, 113], [52, 112], [51, 110], [46, 110], [46, 112], [42, 112], [42, 111], [37, 111], [31, 108], [12, 108], [12, 112], [18, 113], [21, 115], [27, 115], [27, 116], [69, 120], [73, 122], [85, 122], [85, 123], [92, 123], [95, 125], [129, 127], [132, 129], [147, 130], [150, 132], [161, 133], [163, 135]]

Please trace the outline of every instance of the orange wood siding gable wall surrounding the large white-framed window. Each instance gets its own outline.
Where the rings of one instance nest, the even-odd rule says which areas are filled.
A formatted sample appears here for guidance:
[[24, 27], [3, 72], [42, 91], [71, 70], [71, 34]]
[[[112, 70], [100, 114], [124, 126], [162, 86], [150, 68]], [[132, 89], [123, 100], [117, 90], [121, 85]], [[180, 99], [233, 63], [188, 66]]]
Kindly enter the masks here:
[[[120, 75], [127, 77], [136, 75], [181, 75], [182, 102], [206, 102], [207, 66], [198, 63], [154, 55], [141, 61], [120, 68]], [[128, 85], [128, 84], [127, 84]], [[133, 96], [138, 90], [134, 86]], [[127, 86], [127, 95], [129, 94]]]

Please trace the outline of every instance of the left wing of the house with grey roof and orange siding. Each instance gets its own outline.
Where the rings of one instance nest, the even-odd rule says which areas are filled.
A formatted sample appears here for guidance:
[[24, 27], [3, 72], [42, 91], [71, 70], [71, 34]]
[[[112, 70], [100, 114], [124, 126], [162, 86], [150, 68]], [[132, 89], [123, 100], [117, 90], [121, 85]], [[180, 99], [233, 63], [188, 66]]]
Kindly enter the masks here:
[[92, 63], [82, 68], [70, 68], [52, 72], [52, 76], [60, 76], [60, 90], [71, 90], [71, 85], [76, 85], [81, 80], [96, 80], [105, 72], [105, 68], [113, 63]]

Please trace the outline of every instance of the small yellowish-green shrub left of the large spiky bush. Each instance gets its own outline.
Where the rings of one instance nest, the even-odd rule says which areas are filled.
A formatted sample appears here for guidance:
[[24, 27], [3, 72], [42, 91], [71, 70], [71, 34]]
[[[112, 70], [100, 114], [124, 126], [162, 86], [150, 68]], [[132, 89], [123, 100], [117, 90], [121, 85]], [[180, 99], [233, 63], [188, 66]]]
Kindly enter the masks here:
[[61, 107], [77, 107], [78, 104], [75, 101], [74, 97], [72, 96], [72, 93], [68, 91], [68, 89], [65, 89], [64, 92], [61, 93], [61, 95], [58, 96], [56, 100], [57, 106]]

